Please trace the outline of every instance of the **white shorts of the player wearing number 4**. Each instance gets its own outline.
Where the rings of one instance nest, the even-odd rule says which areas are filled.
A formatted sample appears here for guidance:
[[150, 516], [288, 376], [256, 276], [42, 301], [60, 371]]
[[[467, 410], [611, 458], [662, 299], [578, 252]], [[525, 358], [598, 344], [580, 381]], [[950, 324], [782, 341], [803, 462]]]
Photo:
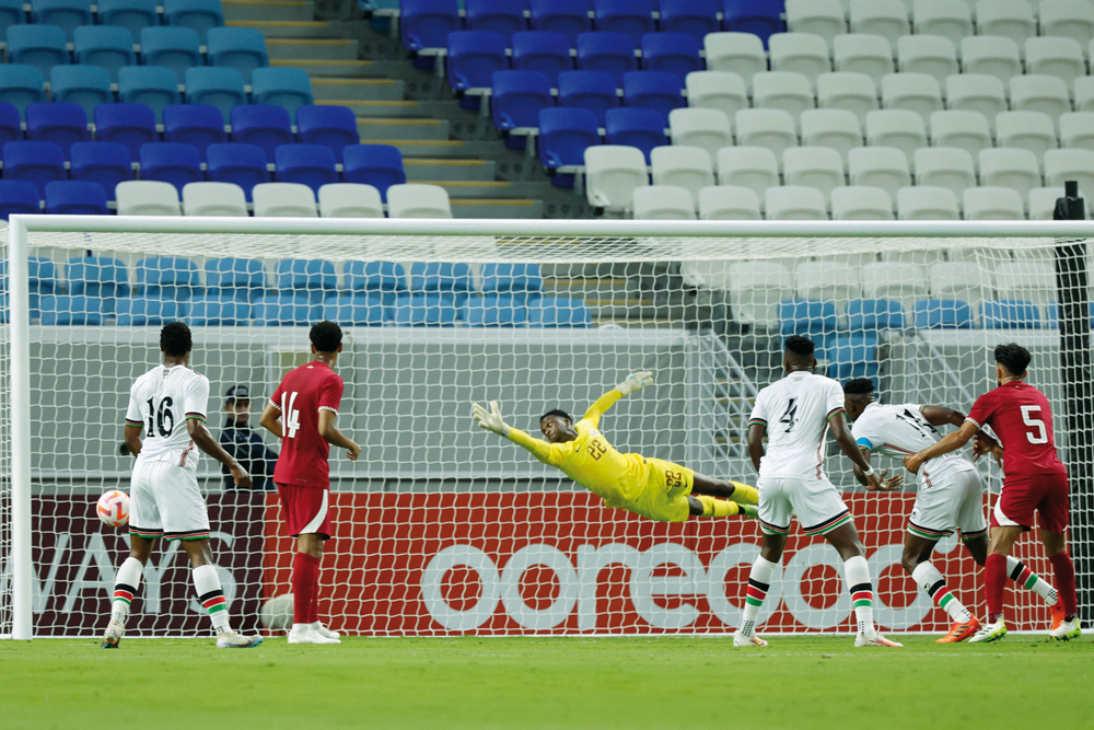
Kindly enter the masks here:
[[790, 518], [794, 515], [811, 537], [852, 521], [842, 495], [828, 479], [760, 477], [756, 488], [759, 489], [759, 525], [766, 534], [788, 534]]

